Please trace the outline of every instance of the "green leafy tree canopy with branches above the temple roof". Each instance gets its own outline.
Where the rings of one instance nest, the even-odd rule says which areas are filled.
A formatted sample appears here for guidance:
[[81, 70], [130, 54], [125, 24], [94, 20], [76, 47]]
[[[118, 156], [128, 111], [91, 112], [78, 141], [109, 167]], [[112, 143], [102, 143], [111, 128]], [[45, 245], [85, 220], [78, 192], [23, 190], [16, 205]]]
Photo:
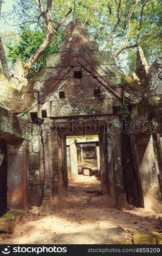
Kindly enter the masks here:
[[[8, 22], [10, 14], [17, 28], [15, 38], [19, 39], [14, 42], [12, 37], [10, 44], [6, 40], [9, 33], [2, 33], [1, 37], [8, 60], [14, 63], [19, 56], [25, 67], [32, 67], [28, 74], [31, 78], [45, 66], [45, 57], [57, 50], [68, 22], [78, 18], [90, 39], [96, 40], [101, 50], [109, 52], [117, 65], [131, 74], [138, 45], [149, 64], [161, 52], [161, 8], [161, 0], [15, 0], [10, 13], [3, 13], [2, 19]], [[48, 38], [50, 33], [52, 40]], [[49, 45], [29, 65], [28, 60], [47, 38]]]

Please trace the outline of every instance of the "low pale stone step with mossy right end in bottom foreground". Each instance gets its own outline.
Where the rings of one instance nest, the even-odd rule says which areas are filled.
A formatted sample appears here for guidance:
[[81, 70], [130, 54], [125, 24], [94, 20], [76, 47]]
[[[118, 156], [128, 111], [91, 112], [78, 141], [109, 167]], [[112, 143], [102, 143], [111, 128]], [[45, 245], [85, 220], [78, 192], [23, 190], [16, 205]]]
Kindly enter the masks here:
[[[162, 242], [157, 232], [148, 232], [144, 230], [133, 230], [134, 244], [156, 244]], [[48, 241], [48, 242], [47, 242]], [[86, 232], [73, 232], [64, 234], [55, 234], [45, 236], [35, 242], [35, 244], [132, 244], [132, 241], [127, 240], [127, 231], [122, 227], [86, 230]]]

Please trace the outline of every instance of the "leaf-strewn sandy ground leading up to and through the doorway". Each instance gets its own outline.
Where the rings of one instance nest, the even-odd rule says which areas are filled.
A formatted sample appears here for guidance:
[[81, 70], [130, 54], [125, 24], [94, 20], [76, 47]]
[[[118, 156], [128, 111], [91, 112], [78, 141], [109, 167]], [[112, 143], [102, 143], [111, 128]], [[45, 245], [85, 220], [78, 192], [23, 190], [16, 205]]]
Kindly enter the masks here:
[[[1, 244], [57, 244], [57, 235], [63, 233], [88, 232], [88, 230], [123, 227], [124, 230], [142, 229], [158, 231], [159, 225], [153, 211], [143, 208], [116, 209], [108, 207], [94, 208], [89, 201], [101, 195], [101, 183], [96, 177], [80, 176], [77, 182], [69, 186], [70, 197], [78, 197], [82, 204], [76, 208], [55, 209], [41, 212], [36, 207], [30, 210], [24, 220], [15, 228], [14, 233], [0, 234]], [[50, 240], [49, 240], [50, 237]]]

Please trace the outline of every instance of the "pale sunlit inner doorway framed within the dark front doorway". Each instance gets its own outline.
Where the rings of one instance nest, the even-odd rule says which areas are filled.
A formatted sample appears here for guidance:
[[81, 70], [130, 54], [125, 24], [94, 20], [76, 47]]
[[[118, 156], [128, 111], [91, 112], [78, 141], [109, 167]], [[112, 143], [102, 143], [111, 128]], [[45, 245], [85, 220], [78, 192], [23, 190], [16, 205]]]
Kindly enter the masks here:
[[89, 175], [101, 176], [98, 135], [66, 136], [66, 155], [68, 179], [77, 178], [84, 168], [92, 172]]

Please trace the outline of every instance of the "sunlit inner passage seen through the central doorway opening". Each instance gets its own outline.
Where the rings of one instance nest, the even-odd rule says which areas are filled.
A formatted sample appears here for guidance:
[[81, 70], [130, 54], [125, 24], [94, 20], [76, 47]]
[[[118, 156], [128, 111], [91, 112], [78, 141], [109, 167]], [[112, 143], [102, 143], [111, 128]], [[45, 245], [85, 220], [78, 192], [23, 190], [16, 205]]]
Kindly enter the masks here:
[[67, 136], [68, 192], [71, 196], [101, 195], [100, 148], [98, 135]]

